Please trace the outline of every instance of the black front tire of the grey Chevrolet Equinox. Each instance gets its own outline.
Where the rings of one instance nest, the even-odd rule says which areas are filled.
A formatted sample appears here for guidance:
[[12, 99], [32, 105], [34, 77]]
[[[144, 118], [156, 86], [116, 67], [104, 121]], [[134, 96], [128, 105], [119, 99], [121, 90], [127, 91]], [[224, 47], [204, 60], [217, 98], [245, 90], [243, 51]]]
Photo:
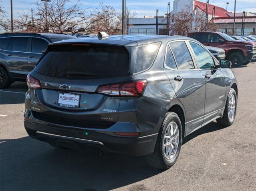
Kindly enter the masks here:
[[[235, 106], [234, 108], [234, 117], [232, 119], [230, 119], [228, 113], [229, 113], [229, 106], [230, 106], [230, 100], [232, 99], [231, 97], [234, 98], [235, 103], [232, 104], [232, 107]], [[231, 88], [229, 93], [228, 93], [228, 98], [226, 100], [226, 106], [225, 106], [225, 110], [223, 113], [222, 118], [218, 118], [216, 121], [221, 124], [222, 126], [230, 126], [234, 123], [234, 120], [236, 118], [236, 106], [237, 106], [237, 95], [236, 95], [236, 91]]]

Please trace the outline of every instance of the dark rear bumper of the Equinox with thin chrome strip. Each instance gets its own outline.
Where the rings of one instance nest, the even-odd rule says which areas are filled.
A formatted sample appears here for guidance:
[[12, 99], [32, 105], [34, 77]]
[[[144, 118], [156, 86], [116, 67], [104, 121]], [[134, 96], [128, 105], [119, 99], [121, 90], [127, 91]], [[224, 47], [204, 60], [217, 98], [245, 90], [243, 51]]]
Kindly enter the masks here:
[[143, 156], [154, 152], [157, 139], [157, 134], [141, 137], [111, 136], [92, 130], [71, 130], [50, 124], [40, 124], [33, 122], [33, 120], [25, 120], [24, 126], [32, 138], [48, 142], [54, 146], [64, 146], [89, 152], [113, 152]]

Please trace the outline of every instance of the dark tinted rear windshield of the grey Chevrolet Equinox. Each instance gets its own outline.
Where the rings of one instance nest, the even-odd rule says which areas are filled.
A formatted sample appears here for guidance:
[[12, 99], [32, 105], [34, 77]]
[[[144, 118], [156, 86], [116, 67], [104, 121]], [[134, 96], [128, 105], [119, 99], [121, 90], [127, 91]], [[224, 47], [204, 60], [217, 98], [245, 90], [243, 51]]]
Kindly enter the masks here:
[[125, 47], [99, 44], [50, 45], [35, 71], [69, 79], [99, 79], [131, 75]]

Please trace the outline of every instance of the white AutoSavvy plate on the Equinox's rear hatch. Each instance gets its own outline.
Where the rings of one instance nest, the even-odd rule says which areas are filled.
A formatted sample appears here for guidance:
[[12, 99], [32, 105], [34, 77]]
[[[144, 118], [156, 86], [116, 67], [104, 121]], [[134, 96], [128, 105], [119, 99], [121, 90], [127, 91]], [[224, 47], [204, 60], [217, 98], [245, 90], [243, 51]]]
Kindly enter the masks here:
[[79, 108], [80, 96], [81, 95], [74, 93], [59, 93], [57, 105], [68, 108]]

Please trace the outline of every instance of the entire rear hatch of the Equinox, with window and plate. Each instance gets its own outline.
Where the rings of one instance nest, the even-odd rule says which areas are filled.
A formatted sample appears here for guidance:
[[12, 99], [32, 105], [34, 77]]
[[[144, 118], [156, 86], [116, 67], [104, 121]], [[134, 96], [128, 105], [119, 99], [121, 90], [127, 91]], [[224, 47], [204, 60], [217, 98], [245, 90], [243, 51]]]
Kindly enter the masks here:
[[96, 91], [105, 84], [130, 81], [129, 63], [124, 46], [49, 45], [31, 73], [42, 87], [32, 96], [33, 116], [62, 125], [108, 128], [118, 119], [120, 97]]

